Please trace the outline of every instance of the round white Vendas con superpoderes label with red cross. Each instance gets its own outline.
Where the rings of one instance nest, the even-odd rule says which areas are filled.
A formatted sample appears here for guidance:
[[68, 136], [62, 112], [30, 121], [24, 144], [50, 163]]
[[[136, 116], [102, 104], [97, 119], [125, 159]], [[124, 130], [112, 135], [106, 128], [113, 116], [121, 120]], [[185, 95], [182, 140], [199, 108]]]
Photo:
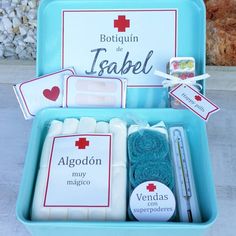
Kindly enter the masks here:
[[130, 196], [130, 210], [139, 221], [168, 221], [175, 207], [172, 191], [157, 181], [138, 185]]

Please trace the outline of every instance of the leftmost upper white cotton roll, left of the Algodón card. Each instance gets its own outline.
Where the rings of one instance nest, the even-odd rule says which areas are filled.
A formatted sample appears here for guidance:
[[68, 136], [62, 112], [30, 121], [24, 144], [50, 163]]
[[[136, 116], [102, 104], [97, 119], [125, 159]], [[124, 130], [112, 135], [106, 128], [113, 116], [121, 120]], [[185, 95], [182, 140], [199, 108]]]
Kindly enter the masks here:
[[48, 161], [49, 161], [48, 156], [50, 155], [50, 152], [51, 152], [53, 137], [61, 133], [62, 125], [63, 123], [58, 120], [54, 120], [51, 122], [50, 128], [48, 130], [48, 134], [45, 138], [44, 145], [43, 145], [43, 150], [42, 150], [41, 160], [40, 160], [40, 168], [48, 167]]

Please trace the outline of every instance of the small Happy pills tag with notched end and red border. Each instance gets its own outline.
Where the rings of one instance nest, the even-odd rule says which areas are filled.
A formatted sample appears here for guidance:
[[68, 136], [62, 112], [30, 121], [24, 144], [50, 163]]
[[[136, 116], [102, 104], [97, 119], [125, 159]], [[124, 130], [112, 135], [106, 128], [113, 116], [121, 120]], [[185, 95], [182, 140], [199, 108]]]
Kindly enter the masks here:
[[208, 120], [211, 114], [220, 109], [195, 88], [187, 84], [178, 85], [169, 94], [205, 121]]

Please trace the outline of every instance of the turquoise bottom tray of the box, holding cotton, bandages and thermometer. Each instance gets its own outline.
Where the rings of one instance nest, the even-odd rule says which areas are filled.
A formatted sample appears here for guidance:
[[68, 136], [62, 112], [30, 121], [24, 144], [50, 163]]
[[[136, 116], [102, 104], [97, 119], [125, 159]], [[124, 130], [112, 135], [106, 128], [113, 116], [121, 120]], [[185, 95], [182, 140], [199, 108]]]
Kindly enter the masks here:
[[[144, 222], [33, 222], [30, 208], [37, 176], [43, 141], [51, 120], [68, 117], [95, 117], [109, 121], [118, 117], [137, 116], [155, 124], [163, 120], [168, 126], [181, 124], [187, 131], [190, 144], [193, 174], [202, 223], [144, 223]], [[127, 120], [128, 121], [128, 120]], [[128, 121], [129, 122], [129, 121]], [[46, 109], [34, 120], [29, 149], [25, 161], [24, 176], [17, 203], [18, 219], [33, 235], [202, 235], [216, 218], [216, 196], [212, 180], [205, 124], [190, 111], [172, 109]]]

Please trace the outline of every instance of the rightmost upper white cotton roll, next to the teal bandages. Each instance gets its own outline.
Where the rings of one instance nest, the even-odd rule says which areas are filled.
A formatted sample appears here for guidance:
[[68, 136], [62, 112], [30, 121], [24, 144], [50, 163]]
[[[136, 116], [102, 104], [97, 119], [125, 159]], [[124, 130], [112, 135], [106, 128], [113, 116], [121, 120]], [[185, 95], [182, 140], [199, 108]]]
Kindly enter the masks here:
[[110, 120], [112, 133], [112, 165], [126, 166], [127, 163], [127, 128], [126, 123], [118, 118]]

